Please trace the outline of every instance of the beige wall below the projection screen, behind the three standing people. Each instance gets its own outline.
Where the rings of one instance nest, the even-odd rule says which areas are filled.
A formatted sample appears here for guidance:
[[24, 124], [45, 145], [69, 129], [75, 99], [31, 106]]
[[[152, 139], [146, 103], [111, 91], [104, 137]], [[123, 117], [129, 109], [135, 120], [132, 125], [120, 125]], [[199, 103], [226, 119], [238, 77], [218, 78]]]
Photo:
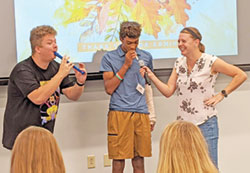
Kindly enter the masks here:
[[[250, 77], [250, 72], [248, 73]], [[166, 81], [167, 77], [161, 78]], [[230, 81], [220, 76], [216, 90], [220, 91]], [[6, 87], [0, 87], [0, 134], [6, 102]], [[146, 172], [154, 173], [158, 161], [158, 146], [165, 125], [175, 120], [176, 96], [167, 99], [154, 88], [157, 124], [152, 133], [153, 157], [146, 158]], [[62, 150], [69, 173], [109, 173], [103, 166], [106, 147], [106, 114], [109, 96], [103, 90], [103, 81], [88, 81], [86, 92], [80, 101], [62, 99], [55, 127], [55, 137]], [[222, 173], [245, 173], [250, 170], [250, 80], [224, 99], [219, 112], [219, 167]], [[96, 156], [96, 168], [87, 169], [87, 155]], [[10, 152], [0, 147], [0, 172], [9, 171]], [[131, 164], [126, 162], [125, 173], [131, 173]]]

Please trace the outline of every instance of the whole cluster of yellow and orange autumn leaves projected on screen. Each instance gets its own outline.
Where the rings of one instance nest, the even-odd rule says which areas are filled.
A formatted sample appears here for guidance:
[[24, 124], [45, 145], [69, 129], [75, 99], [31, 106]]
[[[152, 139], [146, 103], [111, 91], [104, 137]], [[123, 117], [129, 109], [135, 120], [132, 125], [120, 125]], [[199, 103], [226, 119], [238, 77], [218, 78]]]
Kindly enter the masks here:
[[176, 24], [186, 25], [189, 19], [185, 10], [191, 6], [186, 0], [65, 0], [56, 10], [55, 17], [63, 26], [79, 23], [83, 27], [80, 38], [105, 33], [104, 41], [119, 40], [122, 21], [137, 21], [143, 33], [158, 38], [175, 32]]

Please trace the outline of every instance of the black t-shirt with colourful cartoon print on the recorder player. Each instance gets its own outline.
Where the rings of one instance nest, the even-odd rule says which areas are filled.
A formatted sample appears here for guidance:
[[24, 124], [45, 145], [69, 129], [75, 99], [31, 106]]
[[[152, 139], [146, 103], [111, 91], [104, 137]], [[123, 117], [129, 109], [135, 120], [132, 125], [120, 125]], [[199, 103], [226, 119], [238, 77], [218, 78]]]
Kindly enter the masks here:
[[60, 87], [41, 105], [32, 103], [27, 95], [45, 85], [58, 72], [59, 66], [56, 61], [52, 61], [43, 70], [29, 57], [14, 67], [10, 74], [4, 113], [4, 147], [12, 149], [17, 135], [31, 125], [44, 127], [53, 133], [61, 90], [73, 86], [74, 82], [68, 76], [65, 77]]

